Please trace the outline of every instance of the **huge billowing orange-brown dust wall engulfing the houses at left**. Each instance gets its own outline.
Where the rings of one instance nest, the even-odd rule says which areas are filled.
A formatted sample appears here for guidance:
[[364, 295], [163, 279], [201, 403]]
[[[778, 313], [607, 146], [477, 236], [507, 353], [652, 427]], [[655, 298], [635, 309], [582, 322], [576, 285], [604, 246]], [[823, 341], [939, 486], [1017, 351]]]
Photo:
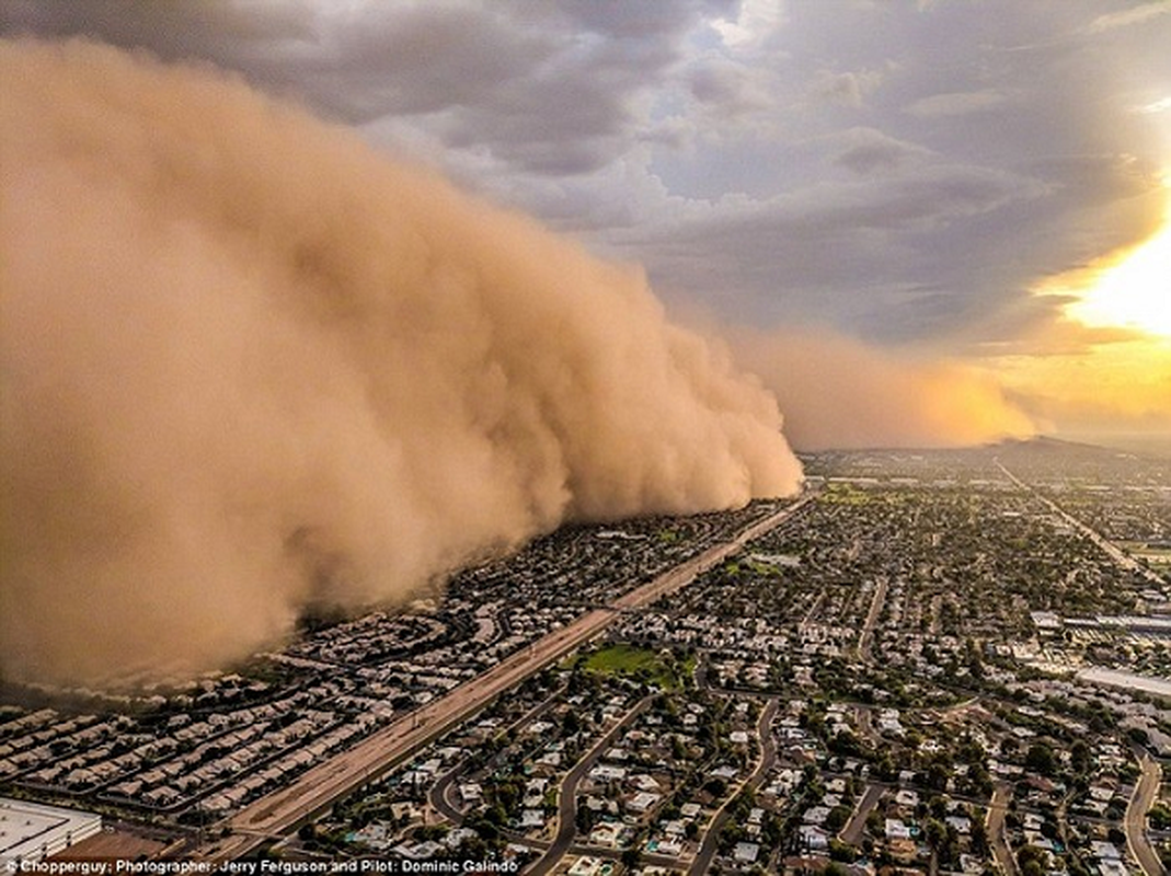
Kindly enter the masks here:
[[797, 488], [634, 267], [210, 69], [0, 43], [0, 672], [163, 675]]

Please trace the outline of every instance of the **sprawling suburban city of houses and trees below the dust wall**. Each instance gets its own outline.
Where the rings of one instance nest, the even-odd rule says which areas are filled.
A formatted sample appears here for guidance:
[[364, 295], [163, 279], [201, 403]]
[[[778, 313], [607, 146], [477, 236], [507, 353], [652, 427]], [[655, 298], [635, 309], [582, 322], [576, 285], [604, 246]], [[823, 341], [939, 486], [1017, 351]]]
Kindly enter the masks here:
[[8, 685], [0, 793], [213, 862], [1160, 872], [1171, 464], [802, 461], [797, 500], [566, 527], [194, 685]]

